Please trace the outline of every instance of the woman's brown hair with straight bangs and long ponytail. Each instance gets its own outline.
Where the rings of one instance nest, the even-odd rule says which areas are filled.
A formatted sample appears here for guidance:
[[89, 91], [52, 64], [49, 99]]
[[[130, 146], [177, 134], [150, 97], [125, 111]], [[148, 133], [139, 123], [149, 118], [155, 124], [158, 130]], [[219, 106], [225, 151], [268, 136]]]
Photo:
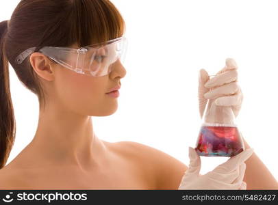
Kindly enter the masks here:
[[36, 46], [79, 47], [123, 36], [125, 22], [109, 0], [21, 0], [10, 20], [0, 23], [0, 169], [14, 144], [16, 126], [10, 94], [8, 63], [18, 79], [45, 107], [46, 92], [29, 57], [16, 64], [17, 55]]

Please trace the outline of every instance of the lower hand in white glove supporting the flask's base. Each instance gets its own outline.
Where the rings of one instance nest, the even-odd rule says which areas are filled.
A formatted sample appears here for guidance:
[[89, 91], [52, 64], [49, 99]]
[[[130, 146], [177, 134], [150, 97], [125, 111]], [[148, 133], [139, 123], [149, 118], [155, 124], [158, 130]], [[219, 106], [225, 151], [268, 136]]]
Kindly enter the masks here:
[[247, 189], [243, 181], [246, 161], [253, 154], [253, 148], [240, 152], [218, 165], [205, 175], [199, 174], [201, 159], [197, 152], [189, 147], [190, 165], [181, 179], [178, 189]]

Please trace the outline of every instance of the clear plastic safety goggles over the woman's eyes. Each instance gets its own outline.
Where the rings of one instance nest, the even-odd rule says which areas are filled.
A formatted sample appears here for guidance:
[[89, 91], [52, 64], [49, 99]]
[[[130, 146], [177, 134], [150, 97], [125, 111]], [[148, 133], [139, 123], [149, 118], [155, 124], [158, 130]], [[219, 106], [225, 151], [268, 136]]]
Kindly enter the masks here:
[[[21, 64], [36, 47], [23, 51], [16, 57], [16, 64]], [[123, 63], [127, 51], [127, 38], [120, 37], [101, 44], [83, 46], [79, 49], [44, 46], [38, 52], [47, 55], [61, 66], [80, 74], [102, 77], [112, 71], [119, 59]]]

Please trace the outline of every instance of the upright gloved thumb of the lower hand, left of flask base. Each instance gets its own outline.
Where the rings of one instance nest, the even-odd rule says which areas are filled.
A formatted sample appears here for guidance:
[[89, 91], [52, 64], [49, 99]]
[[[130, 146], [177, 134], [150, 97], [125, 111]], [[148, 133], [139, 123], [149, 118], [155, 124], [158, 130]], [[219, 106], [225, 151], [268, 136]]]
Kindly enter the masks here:
[[190, 164], [186, 170], [185, 175], [190, 177], [198, 177], [201, 170], [201, 159], [194, 148], [189, 147]]

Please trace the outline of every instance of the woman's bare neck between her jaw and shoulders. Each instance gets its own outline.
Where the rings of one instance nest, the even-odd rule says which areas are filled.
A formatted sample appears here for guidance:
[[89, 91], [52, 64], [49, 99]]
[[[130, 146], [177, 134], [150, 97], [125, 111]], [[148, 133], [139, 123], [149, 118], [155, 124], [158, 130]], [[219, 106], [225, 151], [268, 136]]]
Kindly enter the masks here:
[[40, 111], [35, 137], [28, 146], [40, 154], [43, 161], [81, 169], [100, 164], [106, 153], [103, 141], [94, 135], [90, 116], [54, 106]]

